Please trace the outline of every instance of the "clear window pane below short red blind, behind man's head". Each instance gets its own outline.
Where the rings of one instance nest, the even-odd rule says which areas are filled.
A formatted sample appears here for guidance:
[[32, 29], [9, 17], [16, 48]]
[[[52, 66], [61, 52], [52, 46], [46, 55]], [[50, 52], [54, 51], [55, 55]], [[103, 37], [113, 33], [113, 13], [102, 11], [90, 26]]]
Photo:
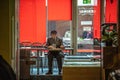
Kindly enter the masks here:
[[58, 37], [63, 39], [66, 47], [70, 47], [71, 43], [71, 33], [70, 33], [71, 21], [48, 21], [48, 37], [50, 37], [50, 32], [56, 30]]

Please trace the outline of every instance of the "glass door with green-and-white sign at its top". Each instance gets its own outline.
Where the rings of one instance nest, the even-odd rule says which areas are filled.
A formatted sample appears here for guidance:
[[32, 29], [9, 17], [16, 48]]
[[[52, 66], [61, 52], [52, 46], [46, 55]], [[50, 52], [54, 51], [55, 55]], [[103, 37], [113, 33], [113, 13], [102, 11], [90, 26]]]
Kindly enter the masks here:
[[[78, 0], [77, 53], [94, 55], [100, 52], [100, 0]], [[97, 46], [98, 51], [95, 50]]]

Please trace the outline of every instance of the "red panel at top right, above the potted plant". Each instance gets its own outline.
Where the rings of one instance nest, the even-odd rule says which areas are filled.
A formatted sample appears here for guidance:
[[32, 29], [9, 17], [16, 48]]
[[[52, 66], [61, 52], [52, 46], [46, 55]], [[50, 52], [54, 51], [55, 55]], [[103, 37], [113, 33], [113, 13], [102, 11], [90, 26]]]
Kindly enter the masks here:
[[105, 22], [117, 22], [118, 0], [106, 0]]

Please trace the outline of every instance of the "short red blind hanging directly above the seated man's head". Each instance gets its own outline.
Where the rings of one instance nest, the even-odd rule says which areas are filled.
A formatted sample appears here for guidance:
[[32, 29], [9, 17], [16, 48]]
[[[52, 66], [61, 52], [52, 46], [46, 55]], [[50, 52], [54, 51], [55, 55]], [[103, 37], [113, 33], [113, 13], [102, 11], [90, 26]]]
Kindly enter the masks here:
[[72, 20], [72, 0], [48, 0], [48, 20]]

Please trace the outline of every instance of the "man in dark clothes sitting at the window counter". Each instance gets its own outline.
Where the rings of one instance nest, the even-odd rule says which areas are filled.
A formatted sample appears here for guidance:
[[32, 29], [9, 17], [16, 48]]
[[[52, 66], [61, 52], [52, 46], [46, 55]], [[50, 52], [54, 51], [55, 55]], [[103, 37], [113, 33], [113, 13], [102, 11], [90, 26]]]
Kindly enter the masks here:
[[48, 52], [48, 72], [46, 74], [52, 74], [53, 58], [56, 58], [58, 64], [59, 74], [61, 74], [62, 69], [62, 56], [61, 50], [64, 49], [63, 42], [57, 37], [57, 31], [51, 31], [51, 37], [47, 39]]

